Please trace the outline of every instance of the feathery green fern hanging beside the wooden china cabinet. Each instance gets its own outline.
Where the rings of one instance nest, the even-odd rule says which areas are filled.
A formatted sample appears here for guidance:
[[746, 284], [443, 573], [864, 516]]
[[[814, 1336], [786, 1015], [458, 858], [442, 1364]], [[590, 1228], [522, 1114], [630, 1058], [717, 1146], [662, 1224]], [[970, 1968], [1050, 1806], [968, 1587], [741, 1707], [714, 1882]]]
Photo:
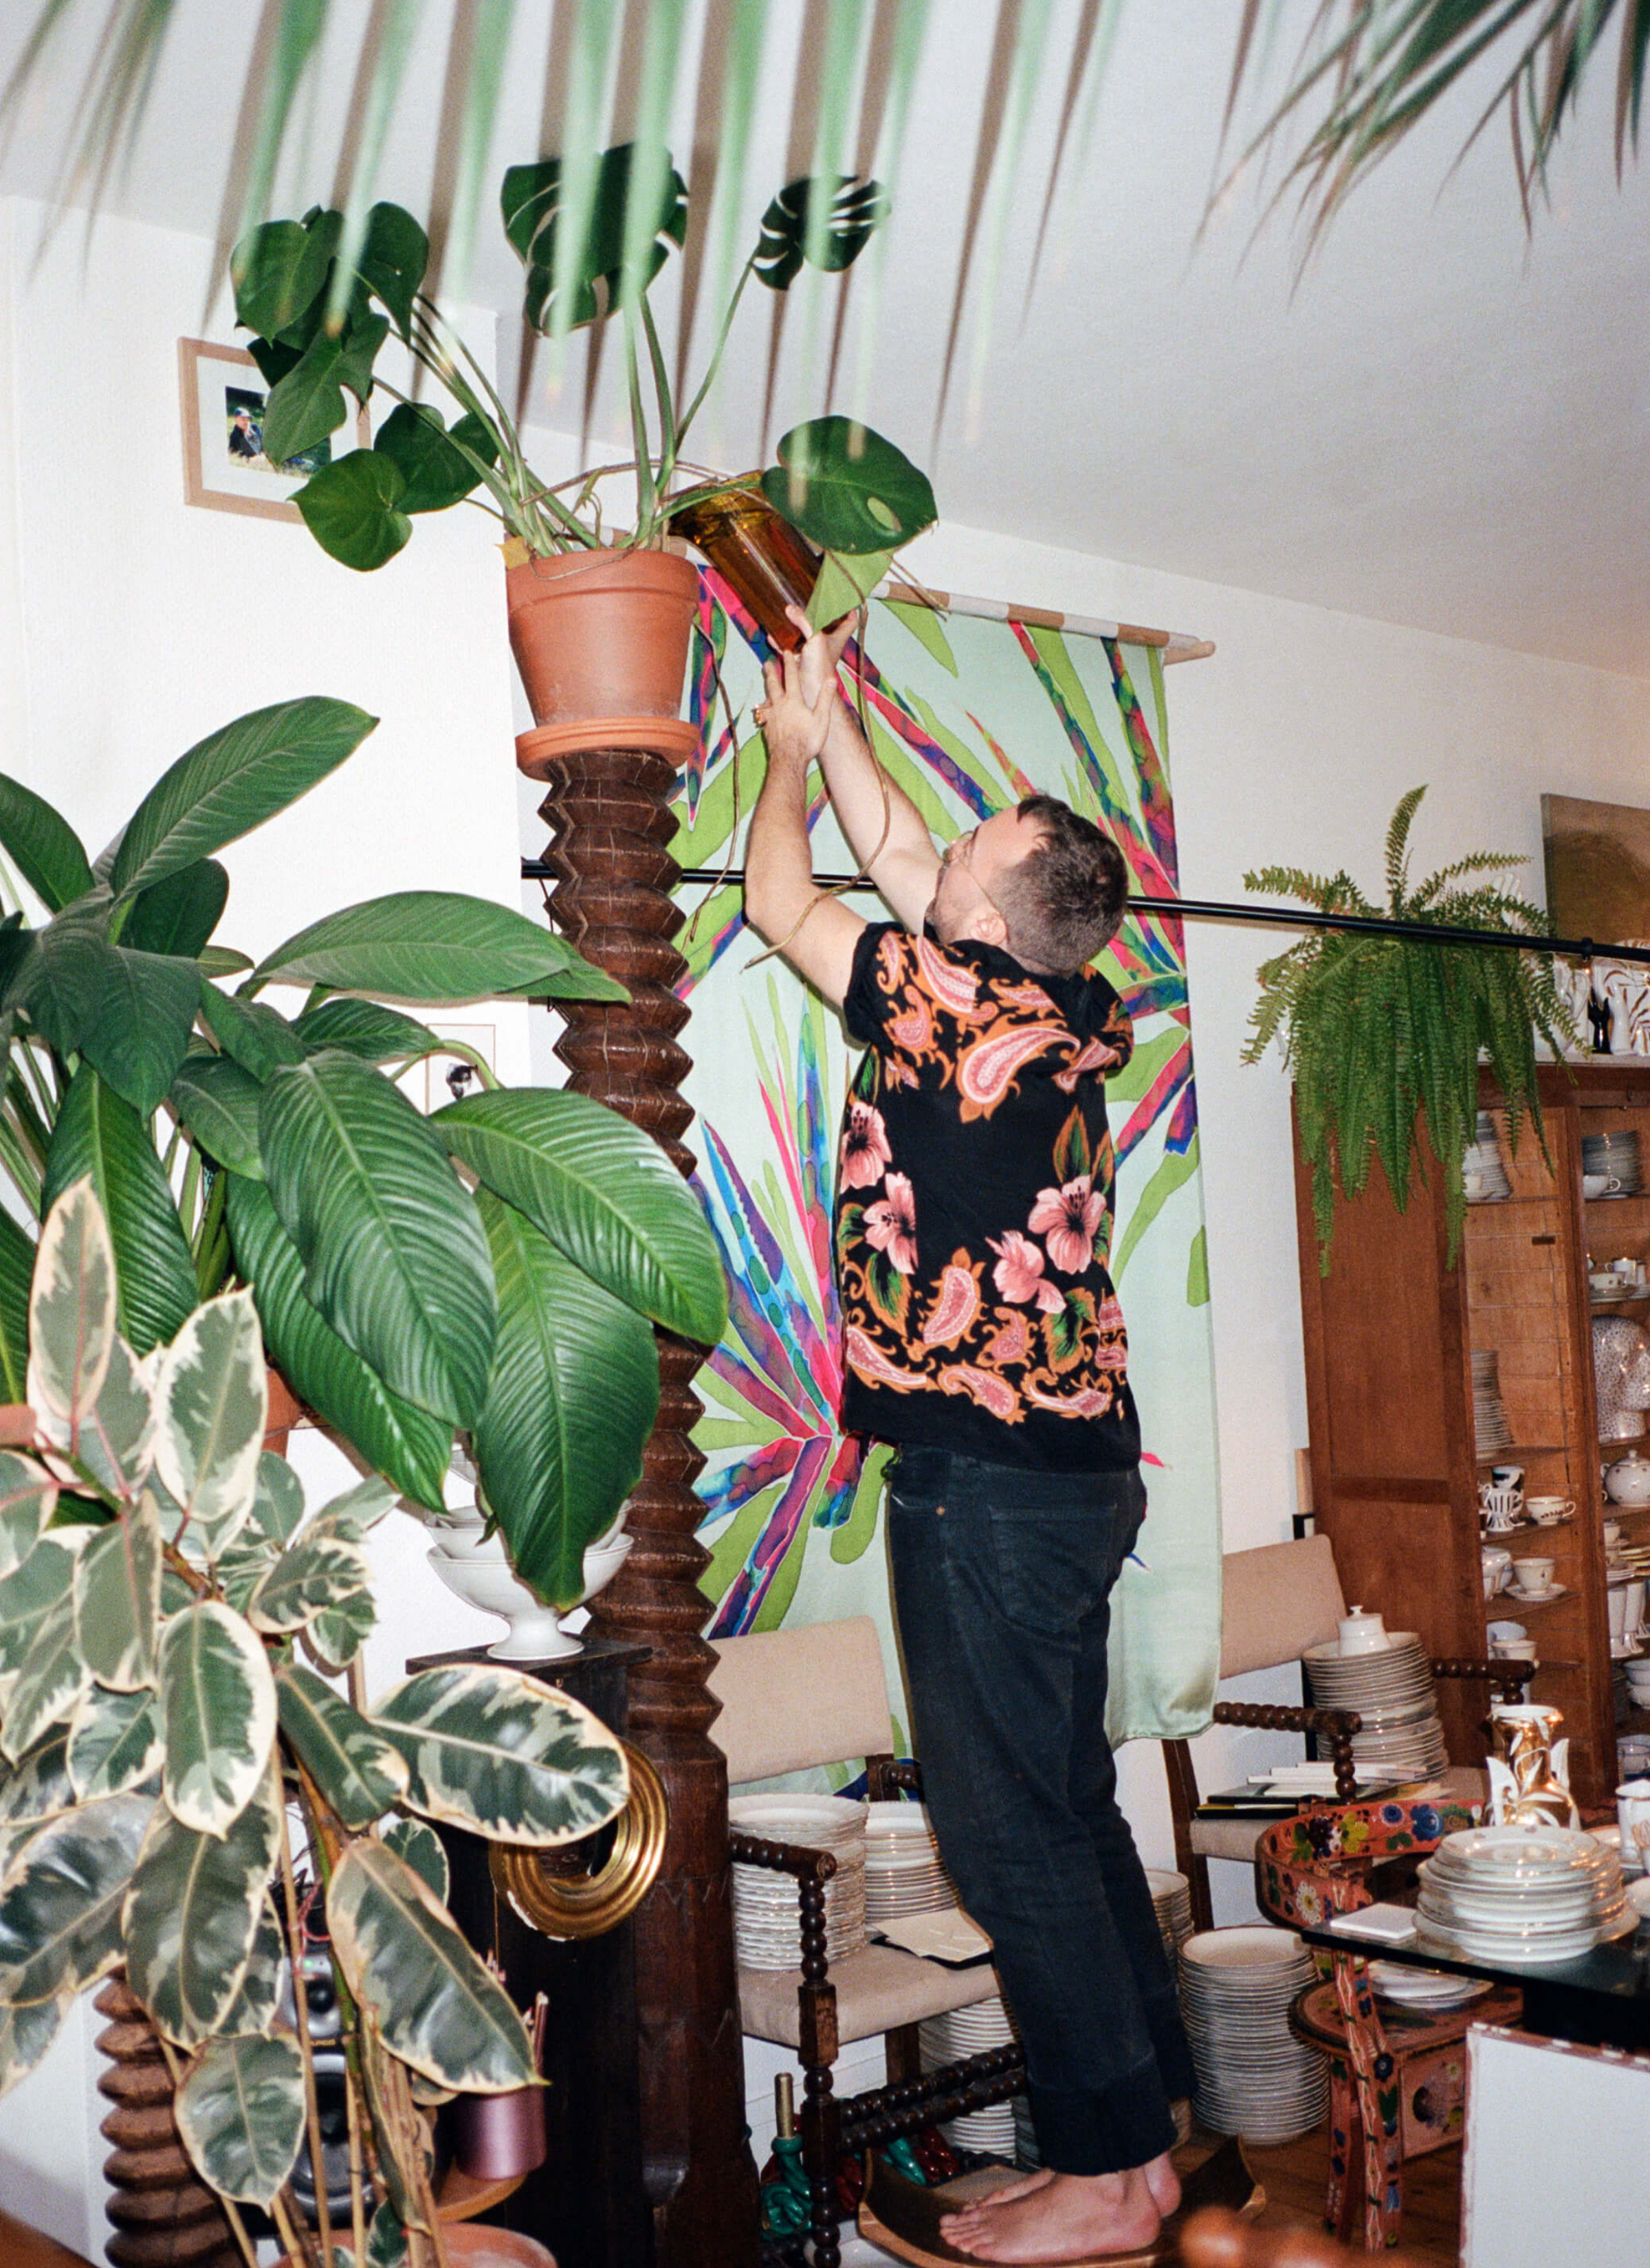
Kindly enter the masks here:
[[[1298, 866], [1246, 873], [1244, 887], [1291, 896], [1321, 914], [1364, 914], [1464, 930], [1550, 934], [1548, 916], [1493, 882], [1457, 889], [1466, 875], [1525, 862], [1478, 850], [1409, 889], [1409, 826], [1425, 787], [1412, 787], [1387, 830], [1387, 905], [1371, 905], [1348, 873]], [[1330, 1268], [1335, 1184], [1355, 1198], [1380, 1159], [1398, 1211], [1409, 1202], [1412, 1168], [1425, 1179], [1416, 1123], [1425, 1120], [1443, 1163], [1450, 1259], [1466, 1218], [1462, 1154], [1478, 1134], [1480, 1050], [1507, 1098], [1509, 1139], [1525, 1111], [1541, 1154], [1541, 1095], [1534, 1036], [1561, 1055], [1575, 1027], [1552, 982], [1552, 957], [1496, 946], [1437, 946], [1323, 930], [1260, 968], [1260, 1000], [1244, 1061], [1257, 1064], [1273, 1039], [1296, 1082], [1300, 1148], [1312, 1166], [1319, 1261]]]

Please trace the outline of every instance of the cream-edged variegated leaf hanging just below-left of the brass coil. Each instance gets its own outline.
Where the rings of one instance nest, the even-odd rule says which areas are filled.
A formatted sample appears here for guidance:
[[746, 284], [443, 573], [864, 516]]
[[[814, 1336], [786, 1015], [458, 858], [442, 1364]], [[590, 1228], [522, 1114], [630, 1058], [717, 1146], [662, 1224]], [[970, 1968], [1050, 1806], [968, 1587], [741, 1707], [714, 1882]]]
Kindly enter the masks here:
[[350, 1991], [404, 2064], [472, 2093], [531, 2087], [515, 2005], [395, 1851], [372, 1842], [345, 1851], [327, 1928]]

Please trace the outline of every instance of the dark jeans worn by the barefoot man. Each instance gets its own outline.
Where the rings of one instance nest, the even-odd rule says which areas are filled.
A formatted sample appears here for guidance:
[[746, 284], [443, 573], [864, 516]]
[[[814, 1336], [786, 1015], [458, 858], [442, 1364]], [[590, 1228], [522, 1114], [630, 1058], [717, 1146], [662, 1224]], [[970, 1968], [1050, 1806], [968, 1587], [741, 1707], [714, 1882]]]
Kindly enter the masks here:
[[894, 1606], [924, 1794], [994, 1941], [1046, 2166], [1119, 2173], [1192, 2093], [1173, 1973], [1105, 1740], [1110, 1597], [1139, 1472], [1021, 1472], [901, 1449]]

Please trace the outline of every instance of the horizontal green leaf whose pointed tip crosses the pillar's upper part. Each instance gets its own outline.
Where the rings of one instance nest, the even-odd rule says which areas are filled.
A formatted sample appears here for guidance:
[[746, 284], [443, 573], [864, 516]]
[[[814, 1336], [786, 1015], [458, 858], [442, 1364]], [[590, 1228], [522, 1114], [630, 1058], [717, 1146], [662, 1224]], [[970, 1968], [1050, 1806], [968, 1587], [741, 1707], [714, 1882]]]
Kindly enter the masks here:
[[527, 984], [549, 998], [629, 998], [527, 914], [449, 889], [402, 889], [325, 914], [256, 973], [261, 982], [336, 984], [390, 1000], [481, 1000]]

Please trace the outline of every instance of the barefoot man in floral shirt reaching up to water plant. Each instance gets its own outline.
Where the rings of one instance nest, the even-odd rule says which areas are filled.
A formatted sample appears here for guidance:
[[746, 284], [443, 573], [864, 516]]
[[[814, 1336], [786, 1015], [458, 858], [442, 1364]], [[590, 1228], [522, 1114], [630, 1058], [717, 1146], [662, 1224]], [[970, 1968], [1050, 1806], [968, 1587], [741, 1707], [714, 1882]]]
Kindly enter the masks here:
[[[806, 628], [801, 617], [794, 617]], [[935, 850], [837, 696], [849, 624], [769, 662], [749, 921], [865, 1043], [835, 1252], [844, 1431], [894, 1442], [890, 1556], [928, 1810], [990, 1930], [1044, 2170], [946, 2220], [987, 2261], [1135, 2250], [1192, 2091], [1105, 1744], [1110, 1592], [1146, 1497], [1105, 1259], [1117, 844], [1051, 796]], [[808, 767], [896, 923], [815, 887]]]

